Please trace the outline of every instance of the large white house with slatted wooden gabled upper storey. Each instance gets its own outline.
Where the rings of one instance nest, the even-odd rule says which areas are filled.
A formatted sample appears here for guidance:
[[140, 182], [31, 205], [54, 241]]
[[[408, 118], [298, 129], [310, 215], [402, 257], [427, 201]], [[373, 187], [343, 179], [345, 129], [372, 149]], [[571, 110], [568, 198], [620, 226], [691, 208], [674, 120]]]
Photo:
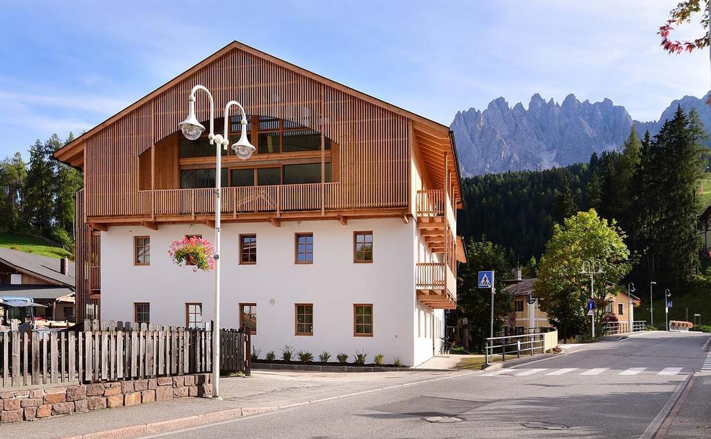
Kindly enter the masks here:
[[[221, 322], [284, 345], [424, 362], [456, 308], [459, 165], [449, 127], [233, 42], [55, 153], [80, 168], [77, 318], [200, 325], [213, 274], [172, 264], [214, 236], [215, 149], [178, 130], [194, 85], [235, 99], [257, 147], [223, 151]], [[208, 99], [198, 94], [208, 126]], [[229, 116], [230, 136], [241, 116]], [[215, 122], [222, 132], [225, 120]]]

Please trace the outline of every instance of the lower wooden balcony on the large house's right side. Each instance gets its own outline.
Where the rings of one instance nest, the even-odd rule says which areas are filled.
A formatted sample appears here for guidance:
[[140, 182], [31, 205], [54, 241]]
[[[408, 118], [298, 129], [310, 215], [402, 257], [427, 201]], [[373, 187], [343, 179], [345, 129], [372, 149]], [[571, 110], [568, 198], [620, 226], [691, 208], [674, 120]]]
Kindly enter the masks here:
[[456, 308], [456, 278], [442, 262], [419, 262], [415, 283], [417, 301], [429, 308]]

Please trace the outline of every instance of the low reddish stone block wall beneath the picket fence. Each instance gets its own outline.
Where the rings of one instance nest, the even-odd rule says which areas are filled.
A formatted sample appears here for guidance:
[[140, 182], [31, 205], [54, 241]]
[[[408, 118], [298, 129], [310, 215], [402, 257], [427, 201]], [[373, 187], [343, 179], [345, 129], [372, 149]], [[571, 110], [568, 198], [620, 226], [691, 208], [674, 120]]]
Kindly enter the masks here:
[[0, 392], [0, 423], [102, 410], [188, 396], [212, 396], [210, 374]]

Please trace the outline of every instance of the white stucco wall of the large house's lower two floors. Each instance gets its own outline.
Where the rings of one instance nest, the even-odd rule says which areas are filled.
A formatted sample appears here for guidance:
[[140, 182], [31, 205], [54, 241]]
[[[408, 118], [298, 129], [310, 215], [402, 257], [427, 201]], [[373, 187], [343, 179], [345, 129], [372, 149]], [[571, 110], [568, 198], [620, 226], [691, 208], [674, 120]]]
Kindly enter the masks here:
[[[356, 349], [398, 356], [407, 365], [432, 356], [429, 337], [417, 337], [415, 296], [415, 222], [401, 219], [223, 224], [221, 256], [223, 327], [239, 325], [239, 303], [257, 303], [257, 335], [252, 345], [262, 357], [284, 345], [307, 350], [355, 354]], [[353, 232], [373, 231], [373, 264], [353, 263]], [[294, 264], [294, 233], [314, 233], [314, 264]], [[237, 264], [242, 233], [257, 234], [257, 264]], [[110, 227], [102, 232], [102, 319], [133, 320], [134, 303], [151, 303], [151, 323], [185, 325], [185, 304], [203, 303], [203, 321], [213, 318], [213, 273], [175, 266], [170, 243], [186, 234], [214, 241], [203, 225]], [[150, 266], [134, 266], [133, 237], [151, 237]], [[415, 245], [413, 245], [415, 242]], [[294, 304], [314, 303], [314, 335], [294, 335]], [[373, 337], [353, 337], [353, 304], [373, 303]], [[423, 312], [424, 313], [424, 312]], [[441, 310], [435, 311], [442, 319]], [[428, 314], [429, 315], [429, 314]], [[443, 325], [440, 323], [439, 327]], [[414, 330], [413, 330], [414, 328]], [[437, 336], [439, 337], [439, 336]]]

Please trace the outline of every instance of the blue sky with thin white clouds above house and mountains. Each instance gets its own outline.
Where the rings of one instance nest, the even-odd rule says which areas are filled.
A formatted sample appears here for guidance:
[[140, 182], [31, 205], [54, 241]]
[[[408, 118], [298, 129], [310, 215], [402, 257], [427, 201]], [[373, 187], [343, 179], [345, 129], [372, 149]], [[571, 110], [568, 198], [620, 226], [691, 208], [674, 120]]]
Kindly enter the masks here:
[[658, 47], [676, 2], [0, 0], [0, 158], [91, 128], [231, 40], [443, 124], [536, 92], [657, 119], [710, 88], [707, 52]]

